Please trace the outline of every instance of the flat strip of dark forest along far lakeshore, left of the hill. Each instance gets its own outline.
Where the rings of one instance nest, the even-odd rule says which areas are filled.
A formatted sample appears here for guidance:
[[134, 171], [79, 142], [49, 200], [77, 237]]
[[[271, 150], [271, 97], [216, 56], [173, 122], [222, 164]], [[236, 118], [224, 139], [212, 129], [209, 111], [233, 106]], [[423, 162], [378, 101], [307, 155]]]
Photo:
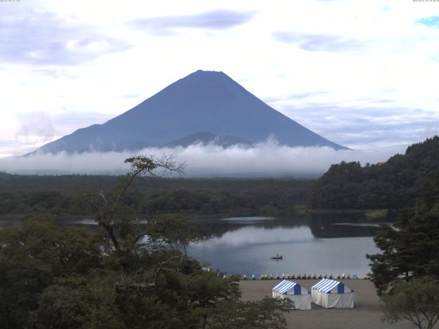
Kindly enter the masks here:
[[[89, 215], [81, 196], [109, 191], [110, 175], [0, 175], [0, 217]], [[139, 215], [280, 215], [307, 203], [311, 180], [175, 179], [139, 180], [123, 196]]]

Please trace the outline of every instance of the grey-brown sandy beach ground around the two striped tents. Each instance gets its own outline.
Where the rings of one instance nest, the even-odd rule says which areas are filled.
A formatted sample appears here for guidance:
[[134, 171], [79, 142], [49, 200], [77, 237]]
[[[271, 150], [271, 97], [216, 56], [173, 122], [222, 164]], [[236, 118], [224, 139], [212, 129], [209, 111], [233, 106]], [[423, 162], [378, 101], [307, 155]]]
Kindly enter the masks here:
[[[242, 300], [260, 300], [264, 296], [272, 294], [274, 287], [281, 280], [249, 280], [241, 281]], [[294, 280], [302, 287], [311, 289], [318, 280]], [[397, 324], [381, 322], [383, 312], [379, 303], [379, 297], [375, 287], [369, 280], [341, 280], [355, 291], [358, 308], [349, 309], [326, 309], [311, 304], [311, 310], [294, 310], [286, 315], [288, 328], [310, 329], [412, 329], [416, 328], [407, 321]]]

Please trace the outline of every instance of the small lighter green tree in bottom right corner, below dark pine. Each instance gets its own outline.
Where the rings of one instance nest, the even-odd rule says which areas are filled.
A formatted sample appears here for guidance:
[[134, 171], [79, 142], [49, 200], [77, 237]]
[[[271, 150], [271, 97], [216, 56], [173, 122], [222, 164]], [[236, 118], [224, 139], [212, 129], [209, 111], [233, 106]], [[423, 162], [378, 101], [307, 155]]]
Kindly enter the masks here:
[[419, 329], [432, 329], [439, 321], [439, 281], [435, 278], [398, 282], [382, 300], [384, 320], [390, 323], [405, 319]]

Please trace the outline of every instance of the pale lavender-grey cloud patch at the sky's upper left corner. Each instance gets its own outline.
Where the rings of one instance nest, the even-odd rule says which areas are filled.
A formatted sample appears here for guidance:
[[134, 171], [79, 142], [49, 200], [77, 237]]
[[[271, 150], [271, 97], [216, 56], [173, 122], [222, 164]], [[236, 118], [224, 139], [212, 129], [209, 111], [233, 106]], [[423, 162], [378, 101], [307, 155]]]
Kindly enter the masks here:
[[130, 47], [102, 36], [93, 25], [63, 21], [52, 12], [27, 8], [1, 12], [0, 59], [32, 65], [72, 65]]

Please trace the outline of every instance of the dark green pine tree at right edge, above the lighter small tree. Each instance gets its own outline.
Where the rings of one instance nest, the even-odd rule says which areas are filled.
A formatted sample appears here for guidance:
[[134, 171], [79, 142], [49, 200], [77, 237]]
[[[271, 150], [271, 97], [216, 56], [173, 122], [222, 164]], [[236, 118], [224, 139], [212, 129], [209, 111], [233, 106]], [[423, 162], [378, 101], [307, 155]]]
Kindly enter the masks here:
[[381, 254], [367, 255], [379, 295], [390, 291], [400, 278], [439, 278], [438, 236], [439, 200], [421, 200], [401, 211], [393, 226], [382, 226], [375, 237]]

